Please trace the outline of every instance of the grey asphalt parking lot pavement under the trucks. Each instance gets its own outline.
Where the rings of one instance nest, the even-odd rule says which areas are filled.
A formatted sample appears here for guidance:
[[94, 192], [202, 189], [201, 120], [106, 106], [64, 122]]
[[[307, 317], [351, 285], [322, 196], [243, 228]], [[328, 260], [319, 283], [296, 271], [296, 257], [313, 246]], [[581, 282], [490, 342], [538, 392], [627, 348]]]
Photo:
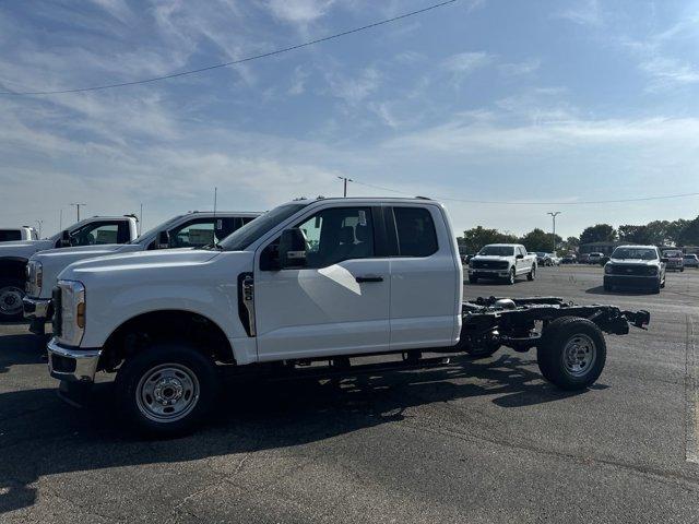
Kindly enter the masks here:
[[232, 382], [198, 433], [144, 441], [55, 394], [42, 344], [0, 327], [0, 522], [699, 522], [699, 271], [660, 295], [602, 270], [465, 285], [651, 311], [608, 336], [595, 386], [562, 393], [535, 355], [350, 377]]

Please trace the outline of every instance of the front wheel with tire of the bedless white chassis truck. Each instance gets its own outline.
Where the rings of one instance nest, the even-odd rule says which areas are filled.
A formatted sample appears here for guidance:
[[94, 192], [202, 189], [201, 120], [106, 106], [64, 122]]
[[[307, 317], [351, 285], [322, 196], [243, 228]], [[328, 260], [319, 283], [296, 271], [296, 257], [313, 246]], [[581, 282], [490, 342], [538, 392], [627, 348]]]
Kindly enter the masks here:
[[128, 359], [116, 380], [117, 407], [137, 430], [181, 434], [200, 422], [220, 391], [216, 365], [180, 343], [163, 343]]

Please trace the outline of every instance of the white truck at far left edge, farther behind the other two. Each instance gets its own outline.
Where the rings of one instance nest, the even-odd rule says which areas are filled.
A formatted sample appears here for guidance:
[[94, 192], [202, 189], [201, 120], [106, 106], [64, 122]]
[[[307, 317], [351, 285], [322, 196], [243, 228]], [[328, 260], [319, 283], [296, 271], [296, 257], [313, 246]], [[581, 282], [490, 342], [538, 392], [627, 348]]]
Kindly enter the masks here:
[[126, 243], [138, 236], [133, 216], [93, 216], [50, 238], [0, 243], [0, 322], [22, 319], [26, 264], [37, 251], [71, 246]]

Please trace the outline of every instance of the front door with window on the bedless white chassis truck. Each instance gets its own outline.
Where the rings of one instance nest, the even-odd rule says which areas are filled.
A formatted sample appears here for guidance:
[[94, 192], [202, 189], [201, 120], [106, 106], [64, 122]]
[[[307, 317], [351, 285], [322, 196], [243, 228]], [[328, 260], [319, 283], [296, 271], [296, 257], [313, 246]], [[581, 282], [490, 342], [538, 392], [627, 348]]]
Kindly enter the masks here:
[[[329, 205], [294, 227], [306, 237], [306, 266], [254, 271], [258, 358], [307, 358], [387, 350], [389, 259], [369, 206]], [[380, 219], [378, 221], [380, 223]], [[381, 229], [382, 230], [382, 229]]]

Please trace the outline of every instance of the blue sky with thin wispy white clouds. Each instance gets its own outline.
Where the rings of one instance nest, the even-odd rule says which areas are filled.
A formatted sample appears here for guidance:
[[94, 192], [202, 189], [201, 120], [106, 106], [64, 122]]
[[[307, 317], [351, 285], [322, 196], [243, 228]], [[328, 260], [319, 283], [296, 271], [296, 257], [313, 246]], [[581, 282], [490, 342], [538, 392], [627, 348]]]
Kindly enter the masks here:
[[[0, 91], [147, 79], [431, 3], [2, 2]], [[201, 74], [0, 95], [0, 225], [46, 236], [80, 202], [142, 204], [150, 228], [211, 210], [214, 187], [220, 210], [264, 211], [340, 196], [337, 177], [351, 196], [445, 199], [458, 231], [694, 218], [698, 196], [576, 202], [699, 192], [698, 51], [698, 1], [461, 0]]]

